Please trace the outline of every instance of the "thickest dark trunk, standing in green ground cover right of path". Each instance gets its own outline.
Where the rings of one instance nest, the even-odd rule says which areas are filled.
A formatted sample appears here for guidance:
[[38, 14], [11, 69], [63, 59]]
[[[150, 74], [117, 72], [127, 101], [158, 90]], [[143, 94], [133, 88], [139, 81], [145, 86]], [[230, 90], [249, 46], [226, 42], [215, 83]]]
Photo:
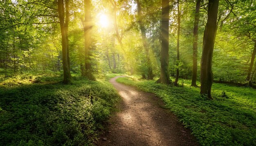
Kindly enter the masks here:
[[200, 94], [211, 97], [211, 86], [213, 83], [213, 73], [211, 70], [213, 47], [217, 30], [217, 14], [219, 0], [209, 0], [207, 24], [204, 30], [203, 50], [201, 58], [201, 87]]

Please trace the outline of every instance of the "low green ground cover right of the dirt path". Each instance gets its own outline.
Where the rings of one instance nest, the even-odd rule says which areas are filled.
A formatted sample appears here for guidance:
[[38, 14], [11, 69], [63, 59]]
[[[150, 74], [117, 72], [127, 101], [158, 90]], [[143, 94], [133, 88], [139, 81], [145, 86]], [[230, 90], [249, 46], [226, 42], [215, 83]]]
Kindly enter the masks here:
[[[166, 103], [201, 145], [252, 146], [256, 145], [256, 90], [226, 84], [213, 84], [215, 100], [200, 97], [200, 88], [157, 84], [155, 80], [136, 77], [118, 78], [117, 82], [136, 86], [142, 91], [155, 93]], [[227, 97], [223, 97], [224, 94]]]

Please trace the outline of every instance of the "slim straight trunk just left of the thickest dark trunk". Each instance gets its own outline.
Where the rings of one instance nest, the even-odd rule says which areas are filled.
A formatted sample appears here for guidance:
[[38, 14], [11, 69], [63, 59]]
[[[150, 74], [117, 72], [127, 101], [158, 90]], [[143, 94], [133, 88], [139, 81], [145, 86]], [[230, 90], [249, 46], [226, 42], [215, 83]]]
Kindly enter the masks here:
[[199, 11], [200, 11], [201, 0], [196, 1], [195, 5], [195, 21], [194, 21], [194, 31], [193, 31], [193, 69], [192, 69], [192, 82], [191, 86], [196, 85], [197, 70], [198, 70], [198, 24], [199, 24]]

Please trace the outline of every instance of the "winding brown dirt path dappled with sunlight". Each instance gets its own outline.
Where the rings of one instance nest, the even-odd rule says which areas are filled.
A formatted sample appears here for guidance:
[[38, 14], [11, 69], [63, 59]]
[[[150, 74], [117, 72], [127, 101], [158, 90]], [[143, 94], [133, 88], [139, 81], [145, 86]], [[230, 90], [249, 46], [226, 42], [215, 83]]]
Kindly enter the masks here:
[[195, 137], [177, 117], [162, 108], [162, 100], [154, 94], [110, 79], [122, 97], [120, 111], [112, 117], [108, 131], [99, 146], [198, 146]]

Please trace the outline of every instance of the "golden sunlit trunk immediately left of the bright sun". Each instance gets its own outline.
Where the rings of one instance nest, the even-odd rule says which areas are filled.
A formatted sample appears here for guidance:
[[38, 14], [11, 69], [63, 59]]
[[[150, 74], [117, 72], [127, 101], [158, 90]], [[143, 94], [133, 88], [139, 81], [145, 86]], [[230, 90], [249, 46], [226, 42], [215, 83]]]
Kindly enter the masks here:
[[85, 38], [85, 70], [83, 76], [87, 77], [89, 80], [95, 80], [92, 75], [92, 64], [91, 64], [91, 50], [92, 50], [92, 16], [91, 16], [92, 3], [91, 0], [84, 0], [84, 20], [83, 31]]

